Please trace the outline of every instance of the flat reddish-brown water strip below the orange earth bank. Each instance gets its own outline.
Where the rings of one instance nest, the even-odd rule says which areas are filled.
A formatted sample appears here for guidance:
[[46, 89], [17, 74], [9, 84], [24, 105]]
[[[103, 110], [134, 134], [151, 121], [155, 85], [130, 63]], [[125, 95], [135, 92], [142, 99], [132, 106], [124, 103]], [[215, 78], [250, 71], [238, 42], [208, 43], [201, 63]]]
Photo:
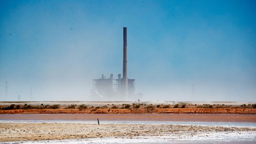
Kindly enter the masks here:
[[249, 122], [256, 114], [1, 114], [0, 120]]

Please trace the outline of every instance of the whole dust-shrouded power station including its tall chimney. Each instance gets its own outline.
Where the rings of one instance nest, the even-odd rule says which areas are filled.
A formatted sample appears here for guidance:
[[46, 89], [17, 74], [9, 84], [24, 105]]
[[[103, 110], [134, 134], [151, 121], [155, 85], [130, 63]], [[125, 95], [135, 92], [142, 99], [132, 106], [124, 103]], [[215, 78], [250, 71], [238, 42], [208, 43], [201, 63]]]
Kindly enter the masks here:
[[128, 79], [127, 76], [127, 28], [123, 28], [123, 69], [117, 79], [113, 79], [113, 74], [106, 78], [102, 74], [100, 79], [93, 79], [93, 89], [91, 96], [98, 100], [128, 100], [141, 98], [142, 94], [135, 94], [135, 79]]

